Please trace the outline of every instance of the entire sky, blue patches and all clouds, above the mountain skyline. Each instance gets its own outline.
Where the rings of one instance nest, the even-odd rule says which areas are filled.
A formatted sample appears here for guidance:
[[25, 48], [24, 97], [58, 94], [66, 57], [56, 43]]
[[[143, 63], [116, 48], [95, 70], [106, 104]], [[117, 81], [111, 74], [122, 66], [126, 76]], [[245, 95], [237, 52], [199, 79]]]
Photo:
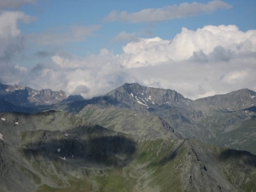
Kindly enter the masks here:
[[125, 83], [256, 90], [256, 1], [0, 0], [0, 83], [84, 98]]

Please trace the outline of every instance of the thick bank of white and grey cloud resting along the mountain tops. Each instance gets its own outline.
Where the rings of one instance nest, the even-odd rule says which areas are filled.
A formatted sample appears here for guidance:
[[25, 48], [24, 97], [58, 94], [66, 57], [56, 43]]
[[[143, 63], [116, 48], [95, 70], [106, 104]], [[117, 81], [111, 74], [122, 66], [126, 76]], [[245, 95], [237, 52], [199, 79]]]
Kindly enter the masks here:
[[173, 39], [137, 38], [125, 44], [121, 55], [101, 49], [98, 55], [79, 58], [59, 51], [51, 55], [51, 62], [38, 64], [32, 71], [16, 66], [9, 68], [16, 70], [15, 77], [11, 73], [1, 77], [4, 83], [18, 81], [85, 98], [137, 82], [195, 99], [242, 88], [256, 90], [255, 63], [256, 30], [204, 26], [196, 31], [183, 28]]

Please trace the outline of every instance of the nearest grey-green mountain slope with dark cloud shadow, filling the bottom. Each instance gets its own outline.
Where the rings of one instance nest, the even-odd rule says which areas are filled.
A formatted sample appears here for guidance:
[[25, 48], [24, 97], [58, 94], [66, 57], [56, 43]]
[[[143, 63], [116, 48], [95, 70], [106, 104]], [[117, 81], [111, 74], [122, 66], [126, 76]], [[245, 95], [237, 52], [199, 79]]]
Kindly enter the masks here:
[[1, 191], [253, 191], [256, 157], [137, 140], [64, 112], [0, 113]]

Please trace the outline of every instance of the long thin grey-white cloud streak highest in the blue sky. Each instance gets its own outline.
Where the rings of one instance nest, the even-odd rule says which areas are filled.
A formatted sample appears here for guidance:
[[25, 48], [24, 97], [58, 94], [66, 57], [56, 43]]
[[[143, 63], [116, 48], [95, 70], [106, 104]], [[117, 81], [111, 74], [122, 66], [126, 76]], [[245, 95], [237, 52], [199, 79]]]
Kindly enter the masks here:
[[112, 11], [105, 21], [122, 20], [131, 23], [173, 20], [177, 18], [187, 18], [199, 14], [211, 14], [218, 9], [230, 9], [228, 3], [222, 1], [212, 1], [207, 4], [203, 3], [181, 3], [179, 5], [166, 6], [160, 9], [143, 9], [135, 13], [126, 11]]

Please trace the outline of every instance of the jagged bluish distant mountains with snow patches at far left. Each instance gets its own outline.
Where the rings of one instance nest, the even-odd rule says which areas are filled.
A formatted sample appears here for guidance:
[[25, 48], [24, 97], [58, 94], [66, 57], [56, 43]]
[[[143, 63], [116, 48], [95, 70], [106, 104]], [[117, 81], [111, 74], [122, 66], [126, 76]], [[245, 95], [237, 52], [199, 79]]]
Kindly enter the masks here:
[[19, 85], [0, 84], [0, 99], [16, 106], [36, 107], [61, 102], [67, 96], [63, 90], [33, 90]]

